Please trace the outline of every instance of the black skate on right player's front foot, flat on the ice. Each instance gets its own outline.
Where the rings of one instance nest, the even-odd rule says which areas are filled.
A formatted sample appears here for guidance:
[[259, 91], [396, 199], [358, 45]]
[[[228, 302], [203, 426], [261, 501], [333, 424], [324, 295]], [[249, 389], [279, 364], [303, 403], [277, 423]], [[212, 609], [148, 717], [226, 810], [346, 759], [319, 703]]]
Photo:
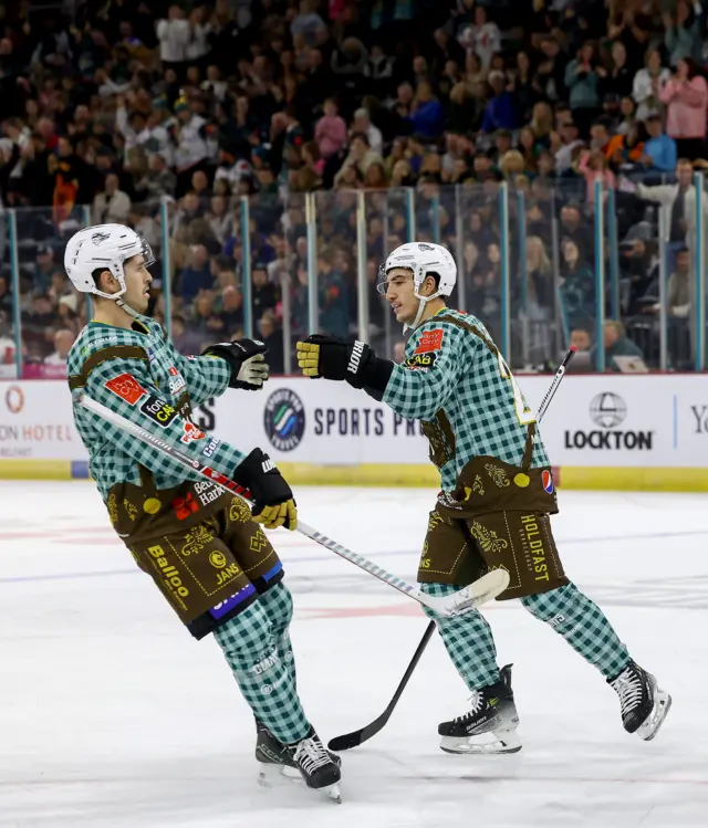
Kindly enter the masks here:
[[511, 664], [501, 670], [501, 679], [476, 690], [471, 710], [438, 726], [440, 747], [446, 753], [517, 753], [519, 714], [511, 690]]

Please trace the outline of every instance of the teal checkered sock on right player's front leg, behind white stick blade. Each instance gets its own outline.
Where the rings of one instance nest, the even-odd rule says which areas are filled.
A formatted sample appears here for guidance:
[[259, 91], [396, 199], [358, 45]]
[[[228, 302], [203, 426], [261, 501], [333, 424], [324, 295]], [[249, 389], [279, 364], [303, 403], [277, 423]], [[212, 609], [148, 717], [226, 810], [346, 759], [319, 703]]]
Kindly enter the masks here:
[[[424, 593], [434, 596], [452, 595], [461, 588], [447, 584], [419, 586]], [[481, 690], [499, 681], [494, 639], [491, 628], [480, 612], [475, 610], [464, 616], [441, 618], [427, 608], [424, 610], [429, 618], [435, 618], [438, 622], [445, 649], [470, 690]]]

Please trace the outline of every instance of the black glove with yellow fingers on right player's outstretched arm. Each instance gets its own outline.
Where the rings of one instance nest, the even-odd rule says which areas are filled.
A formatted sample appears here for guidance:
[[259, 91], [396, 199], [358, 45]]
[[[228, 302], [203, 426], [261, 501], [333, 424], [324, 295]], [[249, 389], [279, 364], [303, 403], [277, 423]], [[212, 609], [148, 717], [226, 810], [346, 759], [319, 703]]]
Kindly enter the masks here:
[[[298, 365], [305, 377], [346, 380], [353, 388], [365, 388], [372, 396], [383, 396], [394, 364], [379, 359], [363, 342], [347, 345], [331, 336], [309, 336], [299, 342]], [[381, 399], [381, 396], [377, 399]]]

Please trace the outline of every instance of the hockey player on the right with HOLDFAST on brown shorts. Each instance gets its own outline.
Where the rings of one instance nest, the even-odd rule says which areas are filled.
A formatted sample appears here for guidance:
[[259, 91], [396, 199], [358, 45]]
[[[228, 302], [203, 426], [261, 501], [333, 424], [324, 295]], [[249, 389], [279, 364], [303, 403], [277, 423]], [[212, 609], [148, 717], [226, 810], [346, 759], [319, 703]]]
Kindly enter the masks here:
[[[670, 696], [565, 576], [549, 518], [558, 512], [555, 489], [535, 418], [482, 323], [446, 306], [456, 279], [445, 248], [403, 244], [386, 260], [379, 283], [396, 319], [412, 329], [403, 364], [361, 342], [314, 335], [298, 343], [300, 368], [311, 378], [345, 380], [421, 421], [441, 479], [418, 569], [425, 591], [446, 595], [487, 569], [506, 568], [510, 584], [498, 600], [520, 598], [594, 664], [618, 695], [625, 730], [650, 740]], [[440, 746], [450, 753], [520, 750], [511, 668], [499, 670], [489, 625], [478, 611], [436, 620], [472, 691], [471, 710], [439, 725]]]

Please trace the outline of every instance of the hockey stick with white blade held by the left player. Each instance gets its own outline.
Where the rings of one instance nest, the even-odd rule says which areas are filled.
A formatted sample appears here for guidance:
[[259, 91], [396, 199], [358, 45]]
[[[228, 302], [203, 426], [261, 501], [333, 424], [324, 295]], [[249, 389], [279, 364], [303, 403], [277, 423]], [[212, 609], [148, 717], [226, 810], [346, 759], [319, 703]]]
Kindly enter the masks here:
[[[190, 472], [197, 472], [202, 478], [211, 481], [228, 494], [236, 494], [247, 503], [252, 503], [252, 501], [249, 500], [250, 492], [247, 489], [239, 485], [235, 481], [229, 480], [229, 478], [225, 476], [220, 472], [215, 471], [209, 465], [202, 464], [199, 460], [190, 458], [185, 452], [165, 442], [156, 434], [153, 434], [152, 431], [144, 429], [137, 423], [131, 422], [122, 415], [112, 411], [110, 408], [106, 408], [106, 406], [104, 406], [103, 403], [97, 402], [90, 397], [86, 397], [86, 395], [83, 392], [77, 394], [74, 397], [74, 401], [83, 408], [86, 408], [87, 410], [98, 415], [98, 417], [101, 417], [102, 419], [112, 422], [123, 431], [132, 433], [142, 442], [152, 446], [154, 449], [157, 449], [157, 451], [166, 454], [171, 460], [188, 469]], [[312, 526], [309, 526], [302, 521], [298, 521], [298, 531], [305, 535], [305, 537], [309, 537], [315, 543], [321, 544], [331, 552], [335, 553], [335, 555], [345, 558], [351, 564], [354, 564], [354, 566], [358, 566], [360, 569], [364, 569], [364, 572], [367, 572], [375, 578], [383, 580], [385, 584], [388, 584], [388, 586], [394, 587], [394, 589], [397, 589], [399, 593], [407, 595], [409, 598], [418, 601], [418, 604], [423, 604], [425, 607], [431, 609], [434, 612], [437, 612], [440, 616], [456, 616], [475, 609], [476, 607], [481, 606], [492, 598], [496, 598], [498, 595], [503, 593], [503, 590], [509, 585], [509, 574], [503, 569], [494, 569], [491, 573], [487, 573], [487, 575], [482, 576], [473, 584], [465, 587], [465, 589], [456, 593], [454, 596], [429, 596], [423, 593], [413, 584], [408, 584], [402, 578], [392, 575], [381, 566], [377, 566], [373, 562], [365, 558], [363, 555], [357, 555], [355, 552], [347, 549], [346, 547], [336, 543], [336, 541], [332, 541], [331, 538], [326, 537], [326, 535], [323, 535], [321, 532], [317, 532], [316, 530], [312, 528]]]

